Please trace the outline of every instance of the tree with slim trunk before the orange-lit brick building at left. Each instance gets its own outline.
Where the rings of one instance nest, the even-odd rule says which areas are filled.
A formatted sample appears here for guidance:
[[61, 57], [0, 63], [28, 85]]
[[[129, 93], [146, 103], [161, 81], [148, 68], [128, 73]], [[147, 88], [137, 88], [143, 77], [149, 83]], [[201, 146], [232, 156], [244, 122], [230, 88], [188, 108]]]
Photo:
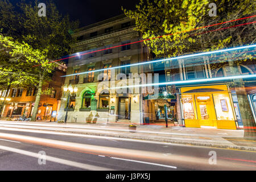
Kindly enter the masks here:
[[[8, 16], [0, 16], [2, 34], [15, 38], [17, 42], [29, 45], [36, 52], [43, 54], [42, 60], [34, 60], [26, 65], [27, 71], [36, 75], [33, 81], [38, 87], [32, 121], [36, 119], [43, 83], [49, 80], [49, 73], [54, 71], [52, 64], [49, 64], [49, 67], [47, 64], [50, 60], [69, 53], [69, 44], [72, 42], [69, 32], [78, 27], [78, 22], [69, 20], [68, 15], [61, 16], [53, 3], [47, 3], [46, 7], [46, 17], [39, 17], [38, 1], [34, 3], [22, 1], [17, 6], [13, 6], [7, 0], [0, 3], [0, 15], [8, 12]], [[30, 68], [28, 68], [29, 66]], [[47, 69], [45, 69], [46, 67]], [[20, 77], [28, 80], [24, 75], [20, 75]]]

